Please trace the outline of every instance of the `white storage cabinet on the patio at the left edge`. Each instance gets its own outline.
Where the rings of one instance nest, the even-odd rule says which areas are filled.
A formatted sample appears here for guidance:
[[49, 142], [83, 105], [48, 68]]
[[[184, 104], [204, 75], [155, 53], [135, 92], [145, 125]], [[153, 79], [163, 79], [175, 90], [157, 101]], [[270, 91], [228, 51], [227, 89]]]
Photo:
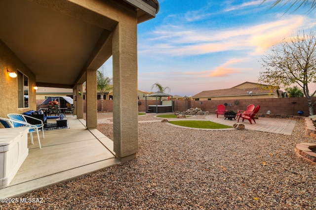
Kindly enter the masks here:
[[0, 189], [13, 180], [29, 154], [28, 127], [0, 129]]

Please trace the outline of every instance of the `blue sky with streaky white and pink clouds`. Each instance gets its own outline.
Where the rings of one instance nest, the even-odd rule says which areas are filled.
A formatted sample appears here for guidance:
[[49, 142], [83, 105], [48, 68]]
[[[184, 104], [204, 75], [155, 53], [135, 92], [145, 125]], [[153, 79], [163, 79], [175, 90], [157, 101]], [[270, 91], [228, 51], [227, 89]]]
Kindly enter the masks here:
[[[158, 1], [156, 18], [138, 25], [138, 90], [159, 83], [172, 95], [256, 83], [271, 47], [316, 21], [308, 7], [269, 9], [274, 0]], [[103, 66], [112, 78], [112, 58]]]

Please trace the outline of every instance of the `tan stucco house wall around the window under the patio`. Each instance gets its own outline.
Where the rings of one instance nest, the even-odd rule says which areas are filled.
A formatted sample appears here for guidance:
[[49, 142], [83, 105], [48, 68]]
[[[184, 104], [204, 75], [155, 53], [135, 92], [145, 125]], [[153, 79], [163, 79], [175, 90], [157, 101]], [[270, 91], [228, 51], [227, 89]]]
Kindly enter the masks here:
[[[36, 110], [35, 75], [27, 66], [0, 40], [0, 117], [6, 118], [9, 113], [23, 113]], [[20, 72], [29, 78], [29, 108], [18, 109], [17, 78], [8, 76], [9, 71]]]

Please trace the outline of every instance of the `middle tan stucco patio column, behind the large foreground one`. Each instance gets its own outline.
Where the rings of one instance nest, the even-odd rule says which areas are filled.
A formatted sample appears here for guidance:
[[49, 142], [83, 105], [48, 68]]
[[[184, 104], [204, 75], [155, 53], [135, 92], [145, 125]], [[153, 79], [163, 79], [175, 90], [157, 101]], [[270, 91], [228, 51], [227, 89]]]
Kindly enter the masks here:
[[86, 70], [86, 122], [87, 128], [96, 128], [97, 119], [97, 70]]

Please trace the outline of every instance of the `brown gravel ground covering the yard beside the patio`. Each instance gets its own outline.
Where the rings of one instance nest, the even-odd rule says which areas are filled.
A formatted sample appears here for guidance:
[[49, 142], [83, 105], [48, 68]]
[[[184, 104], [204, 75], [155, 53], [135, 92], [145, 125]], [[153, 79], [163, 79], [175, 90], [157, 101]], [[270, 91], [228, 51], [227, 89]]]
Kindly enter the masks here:
[[[113, 139], [113, 124], [98, 130]], [[295, 155], [300, 142], [316, 143], [304, 136], [303, 121], [291, 136], [143, 122], [134, 160], [22, 196], [43, 198], [42, 204], [0, 209], [315, 210], [316, 166]]]

